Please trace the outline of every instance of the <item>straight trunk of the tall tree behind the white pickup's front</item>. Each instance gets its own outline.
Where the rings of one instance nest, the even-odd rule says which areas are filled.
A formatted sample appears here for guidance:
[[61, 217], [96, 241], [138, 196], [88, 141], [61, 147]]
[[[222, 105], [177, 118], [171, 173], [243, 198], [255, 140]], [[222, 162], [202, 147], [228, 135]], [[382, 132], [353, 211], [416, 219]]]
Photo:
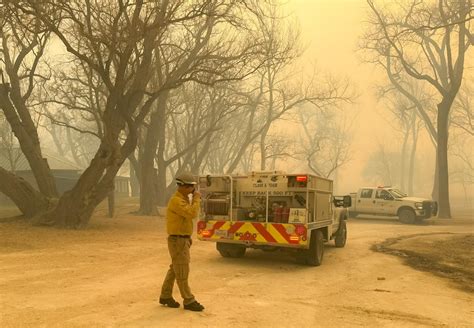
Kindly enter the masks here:
[[447, 219], [451, 218], [448, 173], [448, 119], [451, 103], [451, 98], [445, 97], [438, 105], [438, 217]]

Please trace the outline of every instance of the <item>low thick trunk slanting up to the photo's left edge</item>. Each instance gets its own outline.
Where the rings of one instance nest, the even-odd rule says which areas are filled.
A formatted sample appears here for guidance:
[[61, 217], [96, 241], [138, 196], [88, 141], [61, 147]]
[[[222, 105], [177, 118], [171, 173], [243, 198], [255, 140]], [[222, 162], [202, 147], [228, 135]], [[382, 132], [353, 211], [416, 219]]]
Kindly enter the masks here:
[[49, 200], [21, 177], [0, 167], [0, 191], [10, 198], [27, 218], [46, 211]]

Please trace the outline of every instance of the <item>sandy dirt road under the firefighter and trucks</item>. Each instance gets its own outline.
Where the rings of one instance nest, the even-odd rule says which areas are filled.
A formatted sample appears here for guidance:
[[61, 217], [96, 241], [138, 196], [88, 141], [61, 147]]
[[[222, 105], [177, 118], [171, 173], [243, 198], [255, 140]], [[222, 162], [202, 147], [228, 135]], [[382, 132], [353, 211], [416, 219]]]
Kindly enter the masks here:
[[[122, 209], [123, 213], [130, 209]], [[472, 221], [432, 225], [352, 219], [345, 248], [323, 265], [282, 253], [225, 259], [195, 240], [191, 287], [202, 313], [158, 304], [168, 267], [164, 220], [119, 214], [85, 231], [0, 224], [2, 327], [472, 327], [473, 294], [370, 250], [402, 235], [472, 232]], [[181, 301], [177, 289], [175, 298]]]

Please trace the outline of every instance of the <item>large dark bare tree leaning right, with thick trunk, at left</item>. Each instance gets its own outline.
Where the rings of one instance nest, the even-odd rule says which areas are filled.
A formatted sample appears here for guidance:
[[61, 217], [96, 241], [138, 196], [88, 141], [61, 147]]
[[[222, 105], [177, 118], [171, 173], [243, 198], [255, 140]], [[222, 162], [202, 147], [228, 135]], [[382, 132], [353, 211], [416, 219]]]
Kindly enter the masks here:
[[[158, 6], [143, 1], [31, 0], [12, 5], [41, 21], [73, 58], [97, 74], [107, 90], [104, 134], [96, 155], [74, 188], [38, 220], [83, 227], [97, 204], [113, 189], [118, 169], [136, 146], [137, 127], [158, 97], [159, 91], [147, 86], [155, 42], [166, 28], [162, 22], [185, 19], [189, 12], [171, 18], [166, 16], [167, 3]], [[127, 136], [122, 141], [120, 135], [124, 132]]]

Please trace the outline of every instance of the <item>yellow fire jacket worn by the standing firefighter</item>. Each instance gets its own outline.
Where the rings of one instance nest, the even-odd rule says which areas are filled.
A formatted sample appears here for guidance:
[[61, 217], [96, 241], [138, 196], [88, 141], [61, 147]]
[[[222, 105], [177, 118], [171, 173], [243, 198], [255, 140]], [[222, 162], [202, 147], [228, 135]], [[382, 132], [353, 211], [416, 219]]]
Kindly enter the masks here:
[[193, 219], [198, 215], [200, 206], [201, 197], [193, 197], [192, 204], [189, 204], [187, 197], [179, 191], [175, 192], [166, 210], [168, 235], [192, 235]]

